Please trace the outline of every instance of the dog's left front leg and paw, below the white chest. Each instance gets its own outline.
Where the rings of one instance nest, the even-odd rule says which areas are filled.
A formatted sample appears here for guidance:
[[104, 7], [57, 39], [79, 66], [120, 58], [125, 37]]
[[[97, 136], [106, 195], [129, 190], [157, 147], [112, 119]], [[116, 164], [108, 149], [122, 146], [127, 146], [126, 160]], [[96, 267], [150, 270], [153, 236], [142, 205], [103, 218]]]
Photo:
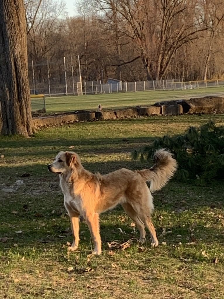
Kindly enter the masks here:
[[69, 251], [75, 251], [79, 246], [79, 213], [76, 213], [70, 205], [65, 202], [65, 208], [68, 212], [68, 215], [70, 217], [71, 222], [71, 228], [72, 228], [72, 236], [73, 236], [73, 242], [70, 247], [68, 247]]

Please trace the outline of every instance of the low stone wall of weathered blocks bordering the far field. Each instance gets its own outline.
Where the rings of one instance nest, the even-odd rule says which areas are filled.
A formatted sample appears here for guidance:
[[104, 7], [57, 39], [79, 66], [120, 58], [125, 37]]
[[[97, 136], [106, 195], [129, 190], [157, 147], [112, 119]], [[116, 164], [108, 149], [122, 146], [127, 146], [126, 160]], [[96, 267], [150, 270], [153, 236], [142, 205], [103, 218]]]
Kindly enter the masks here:
[[214, 112], [224, 112], [224, 98], [200, 97], [190, 100], [163, 101], [151, 106], [136, 106], [124, 109], [105, 109], [102, 111], [79, 110], [69, 114], [34, 117], [33, 125], [35, 128], [39, 128], [79, 121], [136, 118], [150, 115], [209, 114]]

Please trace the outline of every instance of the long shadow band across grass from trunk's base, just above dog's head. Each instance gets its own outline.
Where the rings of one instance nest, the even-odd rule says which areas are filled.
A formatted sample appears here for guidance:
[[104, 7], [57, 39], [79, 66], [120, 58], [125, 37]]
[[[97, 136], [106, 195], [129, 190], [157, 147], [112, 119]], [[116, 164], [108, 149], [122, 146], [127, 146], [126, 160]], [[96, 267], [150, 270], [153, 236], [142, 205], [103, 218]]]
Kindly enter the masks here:
[[[72, 139], [30, 139], [24, 141], [3, 141], [1, 154], [5, 158], [16, 157], [54, 157], [61, 150], [75, 151], [81, 158], [82, 154], [116, 154], [121, 152], [132, 152], [134, 149], [140, 149], [147, 144], [151, 144], [157, 137], [135, 137], [135, 138], [88, 138], [85, 140]], [[69, 148], [72, 147], [72, 148]], [[10, 149], [18, 149], [16, 152], [10, 152]], [[20, 149], [21, 148], [21, 149]], [[6, 150], [7, 149], [7, 150]], [[16, 157], [15, 157], [16, 155]]]

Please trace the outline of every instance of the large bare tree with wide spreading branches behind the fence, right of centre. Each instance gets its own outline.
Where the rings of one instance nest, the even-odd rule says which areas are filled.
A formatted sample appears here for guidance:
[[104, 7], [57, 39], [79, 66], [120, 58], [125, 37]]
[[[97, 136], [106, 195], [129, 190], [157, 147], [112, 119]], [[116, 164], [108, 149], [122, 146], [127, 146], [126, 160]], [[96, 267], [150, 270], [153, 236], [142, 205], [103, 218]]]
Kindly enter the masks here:
[[164, 77], [174, 54], [207, 30], [203, 18], [196, 18], [196, 0], [93, 0], [92, 3], [100, 10], [99, 17], [116, 7], [121, 22], [119, 30], [135, 43], [148, 79]]

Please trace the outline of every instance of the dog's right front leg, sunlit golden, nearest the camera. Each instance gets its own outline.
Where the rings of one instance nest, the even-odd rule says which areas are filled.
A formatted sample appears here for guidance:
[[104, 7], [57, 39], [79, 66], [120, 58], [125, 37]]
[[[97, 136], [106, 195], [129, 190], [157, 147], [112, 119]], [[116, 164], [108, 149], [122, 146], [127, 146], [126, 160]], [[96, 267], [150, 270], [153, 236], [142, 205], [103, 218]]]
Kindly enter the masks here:
[[93, 254], [101, 254], [101, 237], [99, 234], [99, 214], [86, 214], [86, 222], [88, 224], [90, 234], [94, 242]]

